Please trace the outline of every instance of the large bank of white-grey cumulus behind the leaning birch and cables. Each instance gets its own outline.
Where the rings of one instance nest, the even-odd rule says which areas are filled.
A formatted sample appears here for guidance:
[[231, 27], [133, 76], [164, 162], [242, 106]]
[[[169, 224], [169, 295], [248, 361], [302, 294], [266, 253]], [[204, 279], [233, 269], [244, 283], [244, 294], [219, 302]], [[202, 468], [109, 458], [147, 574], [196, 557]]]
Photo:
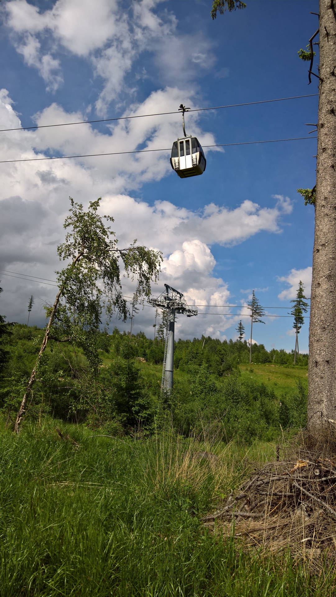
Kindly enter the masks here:
[[[149, 96], [143, 104], [132, 107], [137, 113], [154, 112], [155, 102], [168, 106], [180, 94], [178, 88], [167, 88]], [[0, 128], [20, 127], [13, 101], [6, 90], [0, 91]], [[192, 97], [190, 97], [192, 104]], [[73, 122], [81, 120], [80, 113], [66, 113], [52, 104], [36, 116], [38, 124]], [[198, 116], [193, 113], [193, 128], [206, 144], [214, 137], [199, 128]], [[48, 152], [103, 153], [107, 150], [132, 150], [136, 147], [169, 147], [177, 137], [180, 123], [174, 115], [161, 119], [134, 119], [118, 122], [107, 133], [99, 133], [89, 124], [76, 127], [36, 131], [8, 131], [4, 133], [0, 159], [44, 158]], [[162, 142], [162, 137], [164, 141]], [[248, 318], [248, 310], [240, 307], [233, 315], [223, 313], [223, 307], [232, 304], [227, 282], [214, 275], [215, 259], [211, 252], [214, 244], [232, 245], [258, 232], [279, 233], [281, 220], [286, 216], [283, 202], [275, 199], [270, 208], [261, 208], [252, 201], [243, 201], [234, 210], [223, 205], [206, 205], [204, 210], [193, 211], [177, 207], [172, 202], [156, 201], [149, 205], [131, 196], [144, 181], [160, 180], [171, 173], [167, 152], [139, 156], [114, 156], [73, 160], [33, 161], [0, 164], [0, 278], [4, 293], [1, 295], [1, 313], [11, 321], [21, 321], [30, 294], [36, 297], [39, 309], [32, 313], [32, 323], [42, 325], [42, 305], [54, 298], [54, 270], [59, 268], [57, 245], [63, 241], [63, 222], [69, 210], [69, 195], [84, 205], [101, 195], [101, 214], [115, 219], [113, 228], [120, 246], [132, 239], [147, 247], [161, 250], [164, 255], [162, 273], [153, 294], [163, 290], [164, 282], [183, 291], [190, 304], [199, 305], [197, 318], [178, 318], [177, 335], [224, 337], [225, 330]], [[5, 270], [5, 271], [3, 271]], [[44, 284], [20, 280], [10, 276], [29, 274], [45, 278]], [[40, 281], [41, 282], [41, 281]], [[132, 296], [134, 284], [125, 279], [124, 293]], [[208, 307], [211, 306], [211, 307]], [[201, 315], [208, 313], [208, 315]], [[134, 321], [134, 330], [141, 328], [152, 334], [153, 309], [144, 307]], [[35, 318], [35, 319], [34, 319]], [[118, 322], [117, 322], [118, 324]], [[120, 324], [118, 324], [120, 325]]]

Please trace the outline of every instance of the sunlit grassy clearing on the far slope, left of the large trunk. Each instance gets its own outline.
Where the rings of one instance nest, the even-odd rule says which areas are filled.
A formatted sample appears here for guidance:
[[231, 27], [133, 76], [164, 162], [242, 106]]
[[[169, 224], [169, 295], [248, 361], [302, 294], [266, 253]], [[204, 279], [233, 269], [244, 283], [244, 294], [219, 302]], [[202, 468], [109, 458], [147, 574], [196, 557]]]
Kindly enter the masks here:
[[272, 387], [277, 395], [292, 392], [296, 389], [297, 380], [300, 379], [308, 387], [307, 367], [288, 367], [286, 365], [253, 364], [239, 365], [242, 380], [257, 381]]

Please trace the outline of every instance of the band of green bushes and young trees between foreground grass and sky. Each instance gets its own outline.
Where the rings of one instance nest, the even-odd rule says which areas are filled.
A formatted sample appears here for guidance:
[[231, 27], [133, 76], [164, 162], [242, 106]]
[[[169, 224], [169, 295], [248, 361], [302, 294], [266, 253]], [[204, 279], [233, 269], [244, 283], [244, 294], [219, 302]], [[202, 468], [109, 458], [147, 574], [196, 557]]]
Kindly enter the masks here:
[[[10, 426], [44, 336], [44, 330], [26, 325], [16, 324], [12, 331], [5, 346], [10, 359], [0, 379], [0, 409]], [[155, 426], [161, 429], [168, 418], [175, 433], [186, 438], [206, 433], [223, 441], [238, 437], [251, 442], [276, 438], [280, 424], [283, 429], [295, 427], [306, 416], [300, 401], [297, 411], [288, 406], [297, 401], [296, 390], [291, 398], [288, 386], [281, 391], [277, 386], [275, 395], [275, 384], [266, 387], [258, 381], [257, 364], [281, 364], [291, 373], [294, 355], [285, 350], [268, 352], [263, 344], [253, 344], [253, 370], [245, 373], [242, 368], [241, 375], [239, 365], [249, 362], [246, 341], [221, 342], [204, 336], [178, 340], [174, 390], [161, 396], [161, 345], [141, 332], [130, 337], [117, 328], [112, 334], [97, 332], [93, 339], [101, 347], [97, 370], [78, 344], [50, 340], [36, 373], [27, 422], [50, 413], [64, 421], [82, 421], [107, 435], [138, 436], [153, 433]], [[300, 356], [298, 365], [305, 364], [307, 355]], [[286, 408], [298, 418], [283, 414]]]

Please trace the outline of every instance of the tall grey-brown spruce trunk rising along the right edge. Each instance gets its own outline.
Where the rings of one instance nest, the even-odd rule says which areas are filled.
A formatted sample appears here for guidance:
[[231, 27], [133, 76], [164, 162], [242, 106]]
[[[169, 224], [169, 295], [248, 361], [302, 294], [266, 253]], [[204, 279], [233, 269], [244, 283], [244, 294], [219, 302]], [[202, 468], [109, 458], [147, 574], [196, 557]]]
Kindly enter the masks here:
[[[335, 2], [336, 4], [336, 2]], [[319, 0], [319, 114], [315, 243], [309, 328], [308, 421], [336, 419], [336, 11]], [[314, 77], [315, 78], [315, 77]]]

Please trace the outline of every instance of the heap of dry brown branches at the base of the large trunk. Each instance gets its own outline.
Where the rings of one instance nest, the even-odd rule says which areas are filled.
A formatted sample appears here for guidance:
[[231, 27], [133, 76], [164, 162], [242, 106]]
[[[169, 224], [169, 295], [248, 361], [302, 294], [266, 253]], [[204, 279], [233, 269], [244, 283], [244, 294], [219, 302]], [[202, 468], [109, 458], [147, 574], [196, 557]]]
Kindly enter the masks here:
[[290, 547], [312, 558], [335, 552], [336, 459], [306, 453], [300, 460], [267, 463], [202, 521], [272, 552]]

